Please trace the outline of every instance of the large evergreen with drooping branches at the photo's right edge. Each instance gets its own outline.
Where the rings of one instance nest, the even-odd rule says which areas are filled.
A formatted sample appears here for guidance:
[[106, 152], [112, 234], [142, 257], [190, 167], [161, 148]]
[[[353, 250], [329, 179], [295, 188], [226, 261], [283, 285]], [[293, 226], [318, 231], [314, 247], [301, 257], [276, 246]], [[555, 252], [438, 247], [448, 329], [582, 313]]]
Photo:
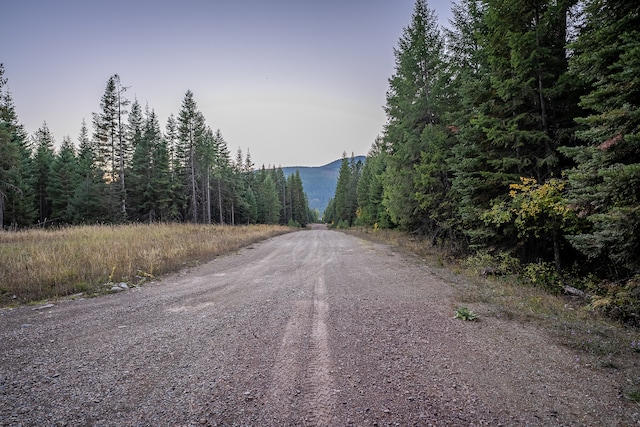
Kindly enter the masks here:
[[584, 146], [563, 151], [569, 203], [586, 220], [570, 237], [589, 258], [619, 272], [640, 269], [640, 6], [588, 0], [571, 48], [572, 76], [588, 88], [578, 119]]

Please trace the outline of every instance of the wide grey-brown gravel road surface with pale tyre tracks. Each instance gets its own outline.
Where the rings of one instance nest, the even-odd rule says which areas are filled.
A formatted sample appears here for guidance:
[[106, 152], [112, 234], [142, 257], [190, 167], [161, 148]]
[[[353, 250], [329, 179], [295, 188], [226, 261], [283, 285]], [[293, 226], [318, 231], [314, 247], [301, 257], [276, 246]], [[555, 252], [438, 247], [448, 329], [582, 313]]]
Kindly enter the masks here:
[[534, 326], [454, 320], [456, 306], [419, 258], [279, 236], [126, 292], [0, 310], [0, 425], [640, 420], [615, 373]]

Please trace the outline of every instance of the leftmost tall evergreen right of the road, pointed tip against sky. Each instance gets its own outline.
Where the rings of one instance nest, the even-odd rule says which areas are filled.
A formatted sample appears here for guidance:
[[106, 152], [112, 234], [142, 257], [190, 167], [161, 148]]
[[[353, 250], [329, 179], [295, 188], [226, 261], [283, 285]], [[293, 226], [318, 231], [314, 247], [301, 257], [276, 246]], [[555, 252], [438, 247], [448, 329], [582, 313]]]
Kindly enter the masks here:
[[[385, 143], [389, 148], [384, 174], [384, 203], [394, 222], [407, 229], [422, 229], [428, 215], [416, 194], [416, 166], [428, 149], [426, 127], [440, 123], [442, 114], [444, 40], [435, 12], [417, 0], [411, 23], [395, 50], [395, 74], [389, 80]], [[336, 199], [336, 208], [339, 208]], [[340, 215], [339, 210], [337, 214]]]

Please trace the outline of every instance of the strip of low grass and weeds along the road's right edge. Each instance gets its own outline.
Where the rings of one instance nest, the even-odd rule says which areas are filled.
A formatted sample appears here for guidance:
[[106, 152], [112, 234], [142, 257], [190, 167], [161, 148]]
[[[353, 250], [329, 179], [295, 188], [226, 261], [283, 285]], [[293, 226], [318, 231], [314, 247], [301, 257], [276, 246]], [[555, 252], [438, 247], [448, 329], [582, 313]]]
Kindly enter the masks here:
[[488, 264], [486, 256], [456, 258], [429, 239], [399, 230], [351, 227], [344, 232], [420, 257], [433, 274], [453, 286], [459, 304], [452, 309], [453, 317], [534, 323], [558, 343], [577, 350], [577, 364], [622, 375], [621, 396], [640, 403], [640, 331], [614, 320], [609, 309], [587, 293], [551, 291], [548, 286], [557, 282], [547, 274], [557, 278], [555, 270], [526, 273], [505, 257], [490, 258], [495, 264]]

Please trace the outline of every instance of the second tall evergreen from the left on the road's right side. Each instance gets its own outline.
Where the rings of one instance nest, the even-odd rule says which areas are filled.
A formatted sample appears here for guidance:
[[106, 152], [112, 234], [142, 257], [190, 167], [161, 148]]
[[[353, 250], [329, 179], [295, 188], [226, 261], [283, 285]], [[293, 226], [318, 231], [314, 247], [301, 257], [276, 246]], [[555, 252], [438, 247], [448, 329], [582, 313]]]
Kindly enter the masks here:
[[455, 135], [452, 147], [451, 195], [457, 212], [457, 227], [472, 248], [482, 247], [496, 232], [482, 215], [498, 196], [500, 186], [488, 162], [494, 153], [486, 144], [483, 129], [476, 122], [478, 112], [492, 103], [485, 23], [486, 4], [481, 0], [461, 0], [453, 6], [452, 28], [447, 31], [448, 64], [452, 73], [451, 108], [446, 115]]

